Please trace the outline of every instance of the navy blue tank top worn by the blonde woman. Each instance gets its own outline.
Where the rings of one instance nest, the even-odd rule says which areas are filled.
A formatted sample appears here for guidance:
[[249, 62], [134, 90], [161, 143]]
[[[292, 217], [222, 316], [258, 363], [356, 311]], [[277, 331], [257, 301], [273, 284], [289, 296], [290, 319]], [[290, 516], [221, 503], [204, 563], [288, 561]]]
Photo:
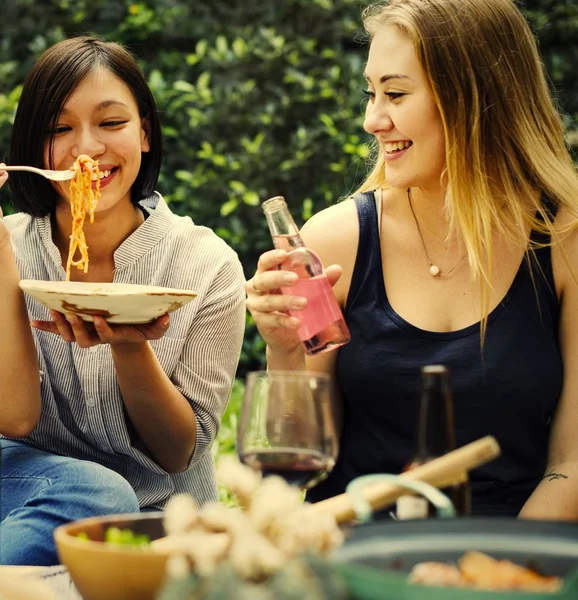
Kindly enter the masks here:
[[470, 473], [472, 514], [516, 515], [544, 475], [552, 414], [562, 389], [559, 305], [550, 248], [522, 260], [502, 302], [480, 324], [449, 333], [419, 329], [387, 298], [373, 193], [355, 197], [359, 247], [340, 348], [337, 381], [344, 428], [337, 464], [310, 490], [315, 502], [355, 477], [399, 473], [415, 451], [420, 368], [451, 369], [458, 446], [491, 434], [501, 456]]

